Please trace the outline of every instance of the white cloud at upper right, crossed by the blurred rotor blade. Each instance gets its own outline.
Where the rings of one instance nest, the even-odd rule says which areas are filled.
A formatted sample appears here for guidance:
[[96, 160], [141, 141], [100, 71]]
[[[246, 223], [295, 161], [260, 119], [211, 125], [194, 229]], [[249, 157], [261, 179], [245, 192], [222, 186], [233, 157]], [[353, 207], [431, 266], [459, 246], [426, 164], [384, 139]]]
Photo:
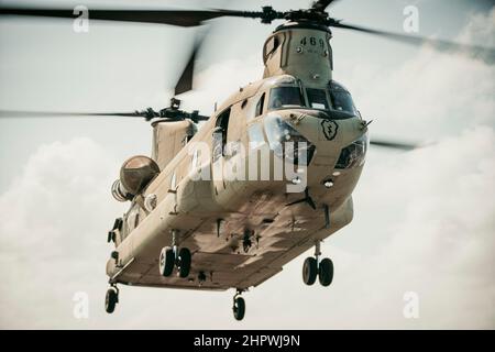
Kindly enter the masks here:
[[[493, 37], [494, 18], [495, 9], [473, 15], [460, 37], [484, 40], [487, 30]], [[495, 127], [495, 66], [481, 59], [426, 46], [397, 69], [365, 61], [341, 65], [336, 77], [342, 73], [363, 117], [375, 120], [372, 132], [418, 141], [479, 124]]]

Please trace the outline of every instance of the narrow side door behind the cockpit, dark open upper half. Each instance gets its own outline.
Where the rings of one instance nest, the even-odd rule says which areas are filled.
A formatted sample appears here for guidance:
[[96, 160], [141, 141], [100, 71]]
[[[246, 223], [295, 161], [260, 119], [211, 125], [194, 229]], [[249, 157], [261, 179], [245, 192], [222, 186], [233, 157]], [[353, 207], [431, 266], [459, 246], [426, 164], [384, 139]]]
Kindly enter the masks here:
[[230, 119], [230, 108], [220, 113], [220, 116], [217, 118], [212, 135], [213, 155], [211, 165], [212, 165], [213, 185], [216, 187], [217, 194], [226, 189], [226, 184], [223, 183], [223, 161], [224, 161], [223, 157], [226, 156], [229, 119]]

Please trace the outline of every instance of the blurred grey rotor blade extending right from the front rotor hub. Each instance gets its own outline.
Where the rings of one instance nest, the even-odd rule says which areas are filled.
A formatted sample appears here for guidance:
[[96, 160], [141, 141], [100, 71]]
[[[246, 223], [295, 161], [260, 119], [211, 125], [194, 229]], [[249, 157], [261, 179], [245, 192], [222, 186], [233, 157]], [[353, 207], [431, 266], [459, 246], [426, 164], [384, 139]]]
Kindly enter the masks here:
[[492, 47], [484, 47], [484, 46], [477, 46], [477, 45], [470, 45], [470, 44], [460, 44], [460, 43], [453, 43], [449, 41], [443, 40], [433, 40], [433, 38], [427, 38], [422, 36], [417, 35], [406, 35], [406, 34], [398, 34], [398, 33], [392, 33], [386, 31], [378, 31], [373, 29], [367, 29], [363, 26], [358, 26], [353, 24], [344, 24], [340, 23], [339, 21], [332, 20], [329, 23], [330, 26], [338, 28], [338, 29], [344, 29], [344, 30], [352, 30], [363, 33], [369, 33], [373, 35], [378, 35], [388, 40], [393, 40], [400, 43], [407, 43], [413, 45], [425, 45], [429, 44], [433, 48], [442, 52], [468, 52], [473, 55], [481, 55], [485, 59], [487, 59], [490, 63], [495, 62], [495, 48]]

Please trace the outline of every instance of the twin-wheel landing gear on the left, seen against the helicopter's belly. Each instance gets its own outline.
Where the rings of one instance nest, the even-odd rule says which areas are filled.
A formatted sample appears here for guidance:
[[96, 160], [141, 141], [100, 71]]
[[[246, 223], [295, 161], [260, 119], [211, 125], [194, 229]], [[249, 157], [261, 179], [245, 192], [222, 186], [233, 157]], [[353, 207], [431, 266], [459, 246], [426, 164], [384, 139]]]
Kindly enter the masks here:
[[172, 248], [165, 246], [162, 249], [158, 258], [158, 270], [162, 276], [168, 277], [177, 267], [180, 277], [185, 278], [190, 273], [191, 255], [187, 248], [177, 246], [177, 231], [172, 231]]

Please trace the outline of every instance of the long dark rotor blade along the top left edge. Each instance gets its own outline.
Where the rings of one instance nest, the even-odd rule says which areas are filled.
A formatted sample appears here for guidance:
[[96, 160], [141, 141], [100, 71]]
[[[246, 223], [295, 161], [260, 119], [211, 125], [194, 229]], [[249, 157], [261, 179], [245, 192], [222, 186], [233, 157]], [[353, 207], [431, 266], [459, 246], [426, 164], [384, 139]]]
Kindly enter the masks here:
[[[26, 15], [44, 18], [76, 19], [80, 15], [72, 9], [40, 9], [25, 7], [0, 7], [0, 15]], [[258, 13], [258, 12], [256, 12]], [[253, 12], [253, 14], [256, 14]], [[89, 9], [89, 20], [161, 23], [178, 26], [196, 26], [202, 21], [221, 16], [250, 16], [249, 13], [232, 10], [102, 10]]]

